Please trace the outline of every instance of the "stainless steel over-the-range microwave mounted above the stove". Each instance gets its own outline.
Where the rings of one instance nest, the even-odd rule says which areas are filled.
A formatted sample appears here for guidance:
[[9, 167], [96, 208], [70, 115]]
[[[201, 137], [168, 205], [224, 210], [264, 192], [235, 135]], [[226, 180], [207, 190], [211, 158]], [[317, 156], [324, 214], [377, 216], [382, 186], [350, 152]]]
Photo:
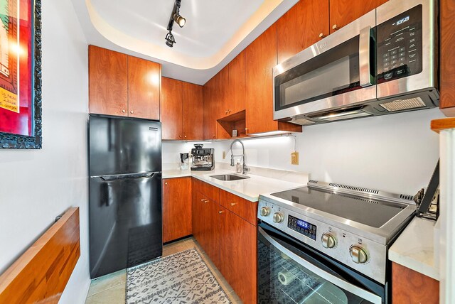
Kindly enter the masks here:
[[321, 124], [439, 105], [432, 0], [390, 0], [273, 69], [274, 119]]

